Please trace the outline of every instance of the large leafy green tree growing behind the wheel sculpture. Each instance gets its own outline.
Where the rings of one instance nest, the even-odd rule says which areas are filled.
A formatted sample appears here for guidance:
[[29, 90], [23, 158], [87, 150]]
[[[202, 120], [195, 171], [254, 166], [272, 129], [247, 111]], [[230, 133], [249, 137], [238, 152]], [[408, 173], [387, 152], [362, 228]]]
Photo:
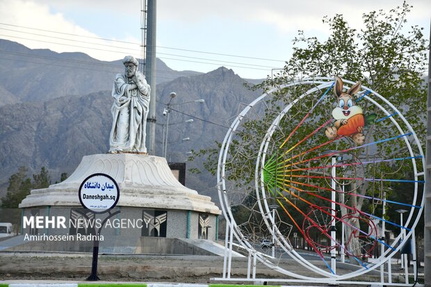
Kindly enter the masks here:
[[[424, 74], [428, 67], [428, 43], [422, 33], [423, 28], [407, 26], [407, 15], [411, 8], [412, 6], [403, 3], [402, 6], [390, 10], [389, 13], [380, 10], [364, 14], [364, 28], [361, 31], [351, 28], [343, 15], [336, 15], [332, 18], [325, 17], [323, 24], [326, 24], [330, 31], [330, 36], [327, 40], [320, 41], [316, 37], [307, 37], [300, 31], [298, 37], [293, 40], [293, 56], [286, 62], [282, 72], [279, 72], [274, 78], [268, 78], [263, 83], [254, 86], [254, 89], [267, 92], [295, 79], [315, 76], [340, 76], [351, 81], [361, 81], [363, 85], [377, 91], [382, 97], [388, 99], [391, 104], [398, 107], [402, 115], [412, 125], [414, 131], [416, 131], [421, 142], [425, 142], [426, 105], [424, 103], [426, 102], [426, 86], [424, 85]], [[268, 106], [279, 104], [283, 107], [283, 105], [291, 103], [299, 95], [302, 95], [302, 92], [304, 90], [291, 89], [288, 92], [284, 89], [279, 90], [278, 93], [275, 93], [274, 101], [269, 103]], [[326, 104], [330, 105], [334, 102], [334, 99], [331, 98], [327, 101]], [[302, 106], [311, 107], [313, 102], [304, 102]], [[318, 106], [313, 111], [314, 119], [307, 119], [302, 124], [302, 129], [295, 133], [298, 139], [304, 138], [316, 129], [316, 126], [318, 126], [314, 122], [316, 119], [319, 117], [331, 117], [330, 111], [319, 108]], [[368, 101], [364, 103], [362, 108], [370, 113], [379, 112]], [[278, 110], [281, 110], [281, 108], [278, 108]], [[306, 108], [307, 110], [309, 109]], [[272, 107], [271, 113], [275, 111], [277, 111], [277, 108]], [[282, 139], [283, 130], [292, 131], [295, 124], [291, 120], [293, 117], [302, 118], [304, 111], [291, 110], [291, 113], [291, 117], [286, 115], [286, 120], [280, 124], [281, 131], [279, 135], [276, 132], [274, 138]], [[270, 120], [266, 120], [270, 116], [267, 113], [243, 124], [244, 129], [236, 134], [238, 136], [237, 141], [233, 141], [229, 149], [231, 161], [227, 163], [226, 170], [229, 170], [229, 168], [234, 168], [234, 170], [229, 170], [227, 179], [236, 181], [236, 188], [238, 190], [242, 189], [245, 197], [247, 197], [247, 190], [254, 188], [250, 182], [254, 179], [253, 167], [256, 158], [241, 155], [257, 154], [261, 139], [266, 132], [266, 129], [262, 129], [262, 126], [270, 122]], [[391, 136], [396, 136], [397, 132], [391, 129], [390, 121], [382, 122], [378, 129], [372, 124], [368, 127], [366, 142], [372, 142], [373, 138], [390, 138]], [[314, 142], [311, 142], [310, 145], [316, 146], [321, 143], [319, 140], [322, 140], [322, 138], [311, 140], [314, 140]], [[339, 141], [338, 149], [341, 150], [343, 147], [351, 145], [352, 142], [343, 139]], [[405, 150], [402, 150], [402, 145], [397, 146], [396, 144], [376, 145], [376, 149], [387, 158], [395, 158], [405, 152]], [[215, 161], [217, 152], [217, 149], [204, 149], [196, 153], [197, 156], [209, 158], [204, 167], [213, 173], [217, 169], [217, 161]], [[368, 149], [361, 148], [355, 151], [354, 156], [372, 158], [373, 154]], [[304, 165], [298, 165], [297, 168], [305, 167]], [[384, 175], [391, 174], [392, 178], [402, 179], [408, 174], [409, 170], [412, 170], [412, 165], [407, 163], [400, 167], [399, 170], [397, 169], [396, 173], [393, 170], [393, 165], [382, 163], [378, 169], [371, 165], [367, 166], [364, 172], [377, 174], [381, 178]], [[314, 174], [322, 175], [316, 171], [314, 171]], [[364, 175], [362, 174], [361, 176]], [[268, 175], [266, 184], [277, 186], [275, 179], [276, 177]], [[315, 179], [311, 183], [316, 186], [324, 184], [322, 179]], [[389, 185], [386, 187], [389, 187]], [[354, 190], [356, 195], [380, 196], [377, 195], [379, 187], [374, 186], [374, 183], [364, 183], [358, 187], [353, 182], [346, 188]], [[396, 200], [404, 192], [412, 192], [412, 189], [405, 190], [406, 186], [393, 185], [392, 188], [393, 191], [388, 192], [387, 195], [389, 199]], [[277, 195], [274, 195], [274, 197], [277, 197]], [[306, 199], [308, 198], [306, 197]], [[341, 200], [348, 202], [350, 206], [355, 206], [359, 211], [373, 211], [376, 208], [375, 204], [365, 199], [366, 197], [345, 195], [345, 198]], [[295, 212], [300, 213], [302, 208], [304, 207], [296, 208]], [[391, 208], [391, 206], [387, 206], [387, 208]], [[236, 208], [236, 210], [241, 211], [241, 218], [243, 218], [243, 208]], [[346, 215], [348, 211], [346, 208], [341, 207], [341, 213]], [[292, 215], [295, 214], [292, 213]], [[346, 228], [352, 227], [359, 227], [359, 221], [352, 219], [351, 227]]]

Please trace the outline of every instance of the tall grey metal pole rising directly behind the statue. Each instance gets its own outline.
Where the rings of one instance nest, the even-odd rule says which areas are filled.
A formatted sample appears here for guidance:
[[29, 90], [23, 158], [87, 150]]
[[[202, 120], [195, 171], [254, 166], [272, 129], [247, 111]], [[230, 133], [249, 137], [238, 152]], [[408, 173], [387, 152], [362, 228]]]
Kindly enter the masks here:
[[151, 99], [147, 117], [148, 154], [156, 154], [156, 0], [143, 0], [147, 2], [147, 17], [145, 23], [145, 78], [151, 86]]

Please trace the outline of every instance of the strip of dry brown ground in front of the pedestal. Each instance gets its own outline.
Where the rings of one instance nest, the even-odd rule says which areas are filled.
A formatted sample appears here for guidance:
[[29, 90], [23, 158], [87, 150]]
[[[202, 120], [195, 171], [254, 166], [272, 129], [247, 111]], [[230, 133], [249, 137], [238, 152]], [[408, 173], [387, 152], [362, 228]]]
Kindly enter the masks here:
[[[320, 264], [316, 261], [316, 264]], [[292, 260], [281, 261], [283, 268], [309, 275]], [[85, 280], [91, 273], [91, 254], [42, 254], [0, 252], [0, 280]], [[97, 274], [105, 281], [163, 281], [171, 283], [216, 283], [222, 277], [220, 256], [99, 255]], [[345, 272], [337, 268], [337, 272]], [[232, 259], [231, 277], [245, 278], [247, 258]], [[257, 265], [257, 278], [286, 279], [285, 275]], [[363, 276], [366, 281], [380, 280], [375, 274]], [[250, 284], [250, 282], [249, 282]], [[286, 285], [286, 284], [284, 284]]]

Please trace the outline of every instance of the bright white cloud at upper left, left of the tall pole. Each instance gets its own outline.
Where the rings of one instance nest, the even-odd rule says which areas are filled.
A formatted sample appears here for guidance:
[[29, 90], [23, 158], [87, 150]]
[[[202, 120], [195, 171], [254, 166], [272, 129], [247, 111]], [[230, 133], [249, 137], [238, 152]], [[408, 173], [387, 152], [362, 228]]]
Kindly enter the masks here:
[[[57, 52], [81, 51], [93, 58], [104, 60], [121, 58], [118, 53], [112, 52], [117, 49], [108, 47], [113, 45], [111, 42], [101, 40], [95, 33], [65, 19], [63, 13], [52, 13], [46, 3], [0, 0], [0, 19], [1, 23], [8, 24], [0, 25], [1, 38], [19, 42], [31, 49], [48, 47]], [[65, 33], [84, 37], [65, 35]], [[133, 40], [136, 42], [135, 39]], [[115, 46], [118, 45], [115, 44]]]

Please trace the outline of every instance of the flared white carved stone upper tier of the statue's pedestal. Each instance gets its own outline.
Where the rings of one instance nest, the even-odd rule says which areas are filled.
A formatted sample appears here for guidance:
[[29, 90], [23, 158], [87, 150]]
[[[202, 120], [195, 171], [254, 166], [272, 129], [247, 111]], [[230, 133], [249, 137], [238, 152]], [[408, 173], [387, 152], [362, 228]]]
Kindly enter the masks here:
[[117, 181], [120, 188], [117, 206], [221, 214], [211, 202], [211, 197], [182, 186], [165, 158], [130, 153], [84, 156], [68, 179], [48, 188], [31, 190], [19, 207], [81, 206], [79, 186], [86, 177], [95, 173], [108, 174]]

